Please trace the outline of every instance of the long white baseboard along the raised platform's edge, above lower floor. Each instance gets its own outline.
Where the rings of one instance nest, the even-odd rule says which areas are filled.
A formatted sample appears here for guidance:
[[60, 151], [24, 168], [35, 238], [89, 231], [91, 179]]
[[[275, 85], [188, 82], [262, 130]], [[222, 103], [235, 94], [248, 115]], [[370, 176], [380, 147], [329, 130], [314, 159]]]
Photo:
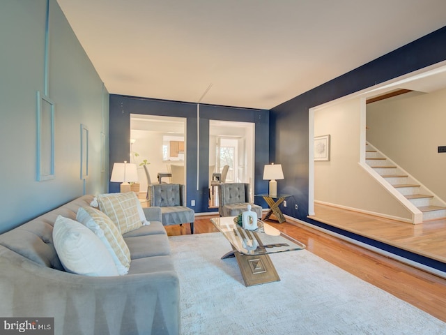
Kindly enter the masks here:
[[374, 253], [378, 253], [379, 255], [383, 255], [388, 258], [392, 258], [392, 260], [397, 260], [398, 262], [401, 262], [406, 265], [410, 265], [410, 267], [415, 267], [416, 269], [420, 269], [422, 271], [426, 271], [429, 274], [433, 274], [435, 276], [439, 276], [441, 278], [446, 279], [446, 272], [440, 271], [439, 269], [435, 269], [433, 267], [429, 267], [427, 265], [424, 265], [419, 262], [415, 262], [413, 260], [409, 260], [408, 258], [403, 258], [399, 255], [395, 255], [394, 253], [390, 253], [388, 251], [385, 251], [380, 248], [376, 248], [375, 246], [371, 246], [369, 244], [363, 243], [361, 241], [357, 241], [356, 239], [351, 239], [350, 237], [346, 237], [342, 234], [338, 234], [337, 232], [332, 232], [331, 230], [327, 230], [321, 227], [318, 227], [317, 225], [313, 225], [312, 223], [307, 223], [305, 221], [299, 220], [298, 218], [293, 218], [292, 216], [285, 215], [286, 221], [293, 224], [293, 223], [300, 223], [302, 225], [305, 225], [309, 228], [318, 230], [320, 232], [323, 232], [324, 234], [331, 235], [333, 237], [336, 237], [337, 239], [341, 239], [343, 241], [347, 241], [351, 244], [355, 244], [355, 246], [360, 246], [361, 248], [367, 249], [369, 251], [373, 251]]

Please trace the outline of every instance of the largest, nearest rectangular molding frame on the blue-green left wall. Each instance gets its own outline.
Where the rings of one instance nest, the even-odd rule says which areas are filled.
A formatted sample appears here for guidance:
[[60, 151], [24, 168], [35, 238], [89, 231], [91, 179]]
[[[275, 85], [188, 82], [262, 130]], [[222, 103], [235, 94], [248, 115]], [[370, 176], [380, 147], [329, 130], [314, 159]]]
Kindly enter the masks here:
[[54, 179], [54, 103], [37, 91], [37, 180]]

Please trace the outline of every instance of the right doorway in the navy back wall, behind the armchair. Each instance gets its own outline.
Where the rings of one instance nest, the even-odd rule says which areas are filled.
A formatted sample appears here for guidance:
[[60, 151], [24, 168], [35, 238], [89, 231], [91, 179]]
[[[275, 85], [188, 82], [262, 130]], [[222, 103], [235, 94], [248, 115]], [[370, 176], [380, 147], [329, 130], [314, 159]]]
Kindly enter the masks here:
[[[254, 189], [254, 123], [209, 121], [209, 208], [218, 207], [218, 183], [214, 173], [227, 174], [221, 182], [248, 183]], [[254, 195], [250, 195], [251, 200]]]

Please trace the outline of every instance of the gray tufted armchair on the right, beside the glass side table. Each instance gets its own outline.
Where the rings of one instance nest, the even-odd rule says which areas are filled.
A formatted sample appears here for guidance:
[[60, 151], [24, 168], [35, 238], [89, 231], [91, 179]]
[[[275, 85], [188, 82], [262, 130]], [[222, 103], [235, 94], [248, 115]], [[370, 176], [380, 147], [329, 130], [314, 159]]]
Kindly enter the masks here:
[[262, 218], [262, 207], [249, 202], [249, 184], [220, 184], [218, 200], [220, 216], [238, 216], [243, 211], [247, 211], [247, 205], [250, 204], [251, 210], [256, 212], [257, 218]]

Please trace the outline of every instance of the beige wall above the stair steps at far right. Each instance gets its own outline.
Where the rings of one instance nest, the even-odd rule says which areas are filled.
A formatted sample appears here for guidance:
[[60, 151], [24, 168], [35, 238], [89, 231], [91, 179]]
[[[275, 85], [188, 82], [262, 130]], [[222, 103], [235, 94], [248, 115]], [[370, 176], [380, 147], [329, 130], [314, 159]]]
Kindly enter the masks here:
[[367, 105], [367, 140], [446, 200], [446, 89]]

